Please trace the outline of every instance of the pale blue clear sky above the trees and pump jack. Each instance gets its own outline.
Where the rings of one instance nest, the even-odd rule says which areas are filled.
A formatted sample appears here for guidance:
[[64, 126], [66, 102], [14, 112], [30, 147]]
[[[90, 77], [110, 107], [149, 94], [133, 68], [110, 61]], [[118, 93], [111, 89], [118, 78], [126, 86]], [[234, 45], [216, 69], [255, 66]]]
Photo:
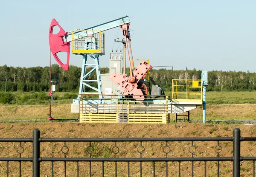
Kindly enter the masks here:
[[[256, 0], [2, 1], [0, 65], [49, 65], [52, 18], [72, 31], [128, 15], [134, 58], [176, 70], [256, 72], [255, 9]], [[122, 38], [119, 28], [105, 32], [106, 55], [100, 57], [100, 67], [108, 67], [111, 49], [118, 48], [115, 37]], [[81, 62], [81, 56], [70, 54], [71, 65], [81, 67]]]

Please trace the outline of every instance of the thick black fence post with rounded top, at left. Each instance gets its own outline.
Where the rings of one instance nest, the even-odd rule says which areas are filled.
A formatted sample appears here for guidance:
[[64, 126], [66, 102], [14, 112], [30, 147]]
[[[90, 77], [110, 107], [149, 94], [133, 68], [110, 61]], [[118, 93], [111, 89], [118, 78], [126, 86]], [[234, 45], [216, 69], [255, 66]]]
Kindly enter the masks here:
[[40, 131], [33, 130], [33, 177], [40, 177]]

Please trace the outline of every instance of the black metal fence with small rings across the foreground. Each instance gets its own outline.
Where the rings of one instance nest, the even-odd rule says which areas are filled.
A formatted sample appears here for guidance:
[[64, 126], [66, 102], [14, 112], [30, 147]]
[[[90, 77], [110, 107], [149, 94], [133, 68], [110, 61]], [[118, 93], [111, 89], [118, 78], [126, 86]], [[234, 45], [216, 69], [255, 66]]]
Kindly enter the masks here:
[[[168, 142], [191, 142], [189, 146], [189, 154], [191, 157], [169, 157], [171, 151], [171, 147], [168, 145]], [[194, 154], [197, 150], [197, 147], [194, 145], [197, 141], [215, 141], [217, 142], [217, 145], [215, 146], [214, 150], [217, 153], [217, 157], [194, 157]], [[222, 151], [222, 147], [220, 145], [220, 142], [222, 141], [230, 141], [233, 142], [233, 156], [231, 157], [220, 157], [219, 153]], [[200, 175], [207, 176], [207, 162], [209, 161], [215, 161], [217, 162], [217, 176], [220, 176], [220, 162], [221, 161], [230, 161], [233, 163], [233, 177], [240, 177], [240, 163], [241, 161], [252, 161], [252, 176], [255, 177], [255, 160], [256, 157], [241, 157], [240, 148], [241, 148], [241, 141], [256, 141], [256, 137], [241, 137], [240, 136], [240, 129], [235, 128], [233, 130], [233, 137], [216, 137], [216, 138], [41, 138], [40, 137], [40, 131], [38, 129], [34, 129], [33, 131], [33, 138], [0, 138], [0, 142], [19, 142], [19, 146], [17, 147], [17, 153], [19, 157], [0, 157], [0, 162], [6, 162], [6, 173], [7, 177], [9, 176], [9, 163], [10, 162], [19, 162], [19, 176], [21, 176], [21, 162], [32, 162], [32, 175], [33, 177], [39, 177], [40, 176], [40, 166], [42, 162], [49, 162], [51, 163], [51, 176], [53, 177], [55, 175], [54, 173], [54, 162], [64, 162], [64, 171], [63, 175], [61, 176], [67, 176], [67, 162], [75, 162], [76, 163], [76, 176], [79, 177], [79, 167], [80, 162], [88, 162], [89, 166], [86, 166], [88, 168], [88, 176], [93, 176], [92, 173], [92, 162], [99, 162], [101, 163], [100, 171], [98, 171], [98, 174], [102, 175], [102, 177], [105, 176], [105, 163], [106, 162], [113, 162], [113, 175], [115, 177], [118, 176], [117, 171], [117, 163], [125, 162], [127, 163], [127, 174], [126, 176], [130, 176], [130, 171], [132, 169], [130, 163], [132, 162], [138, 162], [140, 163], [140, 166], [137, 166], [139, 168], [138, 176], [142, 177], [142, 169], [144, 168], [142, 166], [143, 162], [151, 162], [152, 169], [148, 169], [152, 171], [151, 176], [156, 176], [156, 169], [155, 169], [155, 163], [157, 162], [163, 162], [165, 163], [165, 166], [162, 166], [162, 169], [164, 169], [164, 175], [167, 177], [169, 175], [169, 167], [168, 162], [177, 162], [178, 163], [178, 170], [177, 170], [177, 176], [181, 176], [182, 170], [180, 168], [181, 162], [191, 162], [191, 176], [194, 176], [194, 162], [203, 162], [204, 163], [204, 171]], [[24, 152], [24, 148], [22, 146], [22, 142], [30, 142], [32, 143], [32, 157], [21, 157], [21, 155]], [[64, 154], [64, 157], [41, 157], [41, 143], [43, 142], [62, 142], [64, 143], [64, 146], [61, 148], [61, 153]], [[66, 145], [66, 142], [87, 142], [89, 143], [89, 146], [85, 148], [86, 152], [89, 154], [89, 157], [67, 157], [67, 153], [69, 152], [69, 147]], [[93, 146], [94, 142], [111, 142], [114, 145], [111, 148], [111, 153], [113, 154], [113, 157], [95, 157], [93, 156], [93, 152], [95, 151], [95, 147]], [[139, 146], [137, 147], [137, 152], [139, 153], [140, 157], [117, 157], [117, 155], [120, 153], [120, 149], [117, 146], [117, 142], [138, 142]], [[163, 150], [165, 157], [143, 157], [145, 152], [145, 147], [143, 146], [143, 143], [145, 142], [162, 142], [161, 149]], [[1, 151], [1, 150], [0, 150]], [[84, 167], [83, 167], [84, 168]], [[134, 168], [134, 166], [132, 167]], [[3, 175], [0, 175], [3, 176]], [[97, 176], [97, 175], [96, 175]], [[131, 175], [132, 176], [132, 175]], [[145, 176], [145, 175], [144, 175]], [[184, 175], [183, 175], [184, 176]]]

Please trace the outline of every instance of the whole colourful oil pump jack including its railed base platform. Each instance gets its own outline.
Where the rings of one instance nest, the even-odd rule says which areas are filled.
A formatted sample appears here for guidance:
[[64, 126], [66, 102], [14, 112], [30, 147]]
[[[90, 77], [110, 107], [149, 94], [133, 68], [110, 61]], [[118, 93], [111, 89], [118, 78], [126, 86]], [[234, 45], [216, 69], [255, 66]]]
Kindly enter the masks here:
[[[54, 28], [57, 26], [59, 32], [54, 34]], [[147, 60], [140, 60], [140, 64], [134, 67], [135, 59], [131, 51], [129, 26], [129, 17], [125, 16], [90, 28], [65, 32], [58, 22], [52, 19], [49, 28], [49, 46], [58, 64], [64, 70], [69, 69], [70, 43], [72, 53], [83, 56], [79, 95], [77, 99], [73, 100], [73, 104], [71, 105], [71, 112], [79, 113], [80, 122], [166, 124], [169, 122], [171, 113], [176, 113], [177, 120], [178, 113], [188, 112], [189, 110], [195, 109], [197, 105], [202, 105], [202, 100], [190, 100], [186, 102], [184, 100], [172, 100], [168, 96], [162, 96], [160, 94], [161, 88], [159, 87], [154, 87], [154, 93], [157, 93], [156, 96], [147, 95], [148, 89], [144, 81], [145, 78], [149, 78], [148, 74], [152, 66], [149, 65]], [[117, 27], [121, 28], [123, 31], [125, 51], [122, 53], [122, 58], [125, 58], [126, 55], [128, 56], [130, 76], [125, 75], [126, 59], [124, 59], [123, 72], [120, 72], [120, 70], [117, 73], [110, 72], [107, 75], [102, 74], [101, 77], [99, 56], [105, 54], [105, 34], [102, 32]], [[61, 52], [67, 53], [65, 63], [58, 57], [58, 54]], [[88, 59], [92, 59], [93, 62], [89, 63]], [[120, 59], [118, 61], [120, 61]], [[113, 67], [117, 66], [116, 62], [118, 61], [110, 59], [110, 62], [114, 64]], [[119, 67], [120, 66], [121, 65], [119, 65]], [[88, 70], [89, 68], [92, 69]], [[111, 69], [110, 66], [110, 70]], [[90, 75], [95, 72], [96, 79], [91, 79], [92, 77], [90, 77]], [[116, 96], [111, 95], [110, 97], [106, 96], [106, 94], [103, 95], [102, 78], [104, 78], [104, 84], [108, 83], [108, 81], [113, 81], [114, 83], [111, 82], [111, 84], [108, 84], [108, 88], [103, 84], [106, 90], [115, 87], [119, 94]], [[198, 83], [198, 81], [196, 82]], [[97, 83], [97, 87], [92, 83]], [[86, 87], [87, 89], [85, 89]], [[89, 92], [88, 87], [93, 90], [93, 92]]]

